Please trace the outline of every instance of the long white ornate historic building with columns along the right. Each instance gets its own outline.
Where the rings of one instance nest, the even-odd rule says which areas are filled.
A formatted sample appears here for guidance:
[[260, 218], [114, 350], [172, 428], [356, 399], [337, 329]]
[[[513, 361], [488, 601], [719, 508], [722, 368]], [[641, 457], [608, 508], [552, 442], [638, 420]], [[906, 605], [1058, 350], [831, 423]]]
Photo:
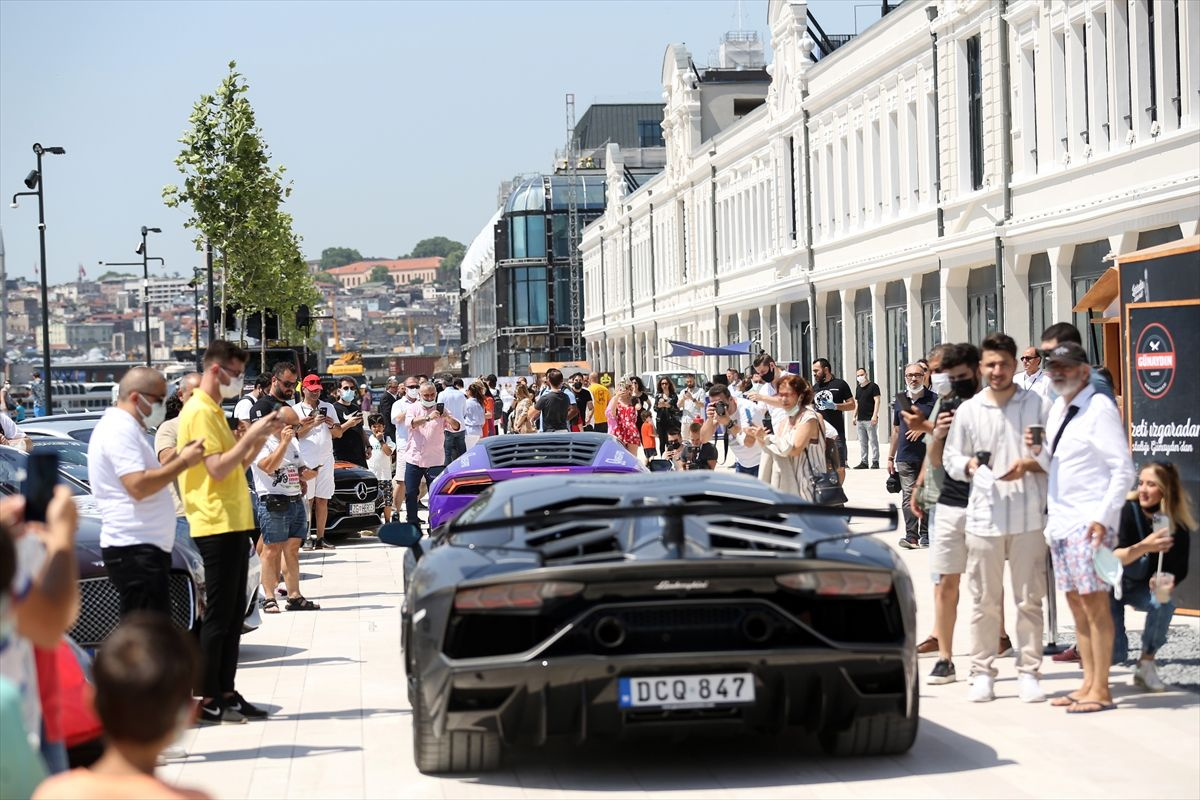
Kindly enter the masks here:
[[817, 62], [804, 0], [768, 22], [766, 103], [702, 140], [673, 44], [666, 170], [626, 194], [610, 148], [581, 245], [594, 366], [756, 338], [894, 392], [934, 344], [1002, 329], [1024, 347], [1110, 252], [1196, 233], [1200, 2], [908, 0]]

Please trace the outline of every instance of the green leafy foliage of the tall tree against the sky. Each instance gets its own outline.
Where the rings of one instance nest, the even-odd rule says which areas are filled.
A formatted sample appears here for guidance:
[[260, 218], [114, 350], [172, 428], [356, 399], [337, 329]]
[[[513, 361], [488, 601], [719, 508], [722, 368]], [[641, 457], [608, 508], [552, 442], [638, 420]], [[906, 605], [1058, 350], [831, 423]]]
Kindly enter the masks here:
[[[283, 211], [292, 185], [284, 168], [270, 166], [270, 154], [254, 109], [246, 97], [250, 85], [235, 61], [217, 90], [202, 95], [188, 116], [188, 130], [175, 166], [182, 186], [163, 187], [170, 207], [186, 205], [185, 225], [220, 251], [224, 267], [224, 302], [245, 313], [275, 311], [289, 319], [300, 303], [313, 305], [319, 294], [308, 275]], [[246, 331], [256, 335], [257, 331]]]

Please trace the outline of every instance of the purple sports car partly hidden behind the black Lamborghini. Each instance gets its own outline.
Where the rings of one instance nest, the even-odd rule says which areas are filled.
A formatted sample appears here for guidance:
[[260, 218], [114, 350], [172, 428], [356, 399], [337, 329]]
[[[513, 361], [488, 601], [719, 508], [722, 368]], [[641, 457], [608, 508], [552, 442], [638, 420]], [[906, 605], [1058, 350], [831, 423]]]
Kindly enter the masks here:
[[430, 487], [430, 528], [454, 519], [484, 489], [515, 477], [553, 473], [644, 473], [607, 433], [488, 437], [456, 458]]

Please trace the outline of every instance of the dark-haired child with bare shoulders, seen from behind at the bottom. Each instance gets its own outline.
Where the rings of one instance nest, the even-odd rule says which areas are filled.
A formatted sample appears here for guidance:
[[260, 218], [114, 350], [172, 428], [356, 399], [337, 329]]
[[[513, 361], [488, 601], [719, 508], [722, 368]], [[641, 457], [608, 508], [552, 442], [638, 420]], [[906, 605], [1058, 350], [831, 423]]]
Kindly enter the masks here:
[[104, 642], [92, 672], [108, 746], [91, 768], [56, 775], [38, 800], [59, 798], [206, 798], [155, 777], [158, 754], [192, 723], [196, 642], [166, 614], [134, 612]]

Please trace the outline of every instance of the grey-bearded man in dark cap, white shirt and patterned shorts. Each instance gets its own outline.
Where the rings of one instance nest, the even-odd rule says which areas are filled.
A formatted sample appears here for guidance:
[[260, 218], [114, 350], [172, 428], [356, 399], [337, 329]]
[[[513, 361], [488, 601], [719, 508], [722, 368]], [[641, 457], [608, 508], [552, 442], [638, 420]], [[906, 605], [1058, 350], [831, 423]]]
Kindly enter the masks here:
[[1133, 461], [1117, 407], [1088, 384], [1084, 348], [1064, 342], [1045, 359], [1058, 395], [1043, 447], [1050, 456], [1046, 539], [1055, 582], [1075, 616], [1084, 666], [1084, 685], [1055, 698], [1054, 705], [1066, 706], [1068, 714], [1091, 714], [1112, 708], [1114, 636], [1109, 584], [1097, 575], [1092, 557], [1102, 545], [1116, 545], [1121, 506], [1133, 485]]

